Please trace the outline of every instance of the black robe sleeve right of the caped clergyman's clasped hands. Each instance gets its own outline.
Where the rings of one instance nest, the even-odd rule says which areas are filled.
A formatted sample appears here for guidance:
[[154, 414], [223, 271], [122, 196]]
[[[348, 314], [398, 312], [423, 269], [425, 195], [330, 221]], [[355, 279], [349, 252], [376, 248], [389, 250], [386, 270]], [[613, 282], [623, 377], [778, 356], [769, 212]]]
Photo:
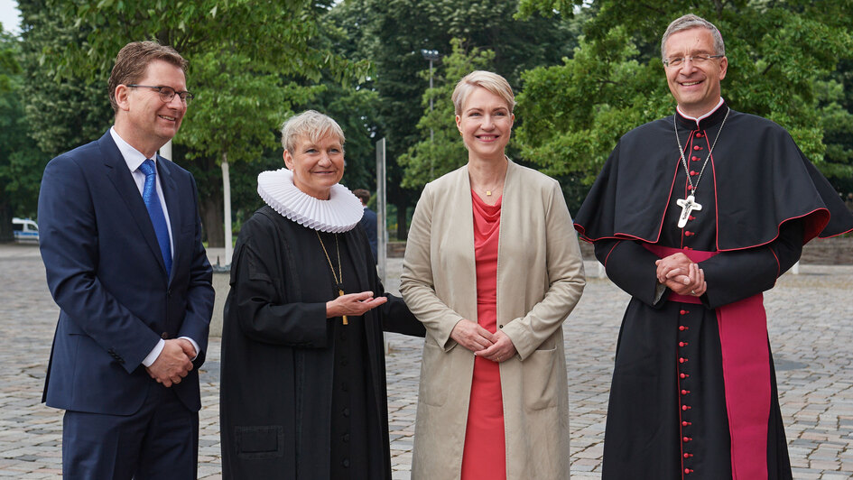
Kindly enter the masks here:
[[768, 245], [721, 252], [700, 262], [708, 283], [702, 303], [716, 309], [773, 288], [776, 279], [800, 259], [803, 229], [802, 220], [788, 221]]

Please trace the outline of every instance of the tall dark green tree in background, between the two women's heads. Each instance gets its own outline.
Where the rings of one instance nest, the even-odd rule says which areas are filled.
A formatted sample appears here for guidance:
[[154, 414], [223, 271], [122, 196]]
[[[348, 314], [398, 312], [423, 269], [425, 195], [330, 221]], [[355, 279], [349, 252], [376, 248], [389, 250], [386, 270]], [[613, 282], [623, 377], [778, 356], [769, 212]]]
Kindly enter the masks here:
[[[376, 137], [385, 137], [388, 148], [388, 199], [397, 212], [397, 236], [405, 237], [409, 208], [419, 196], [403, 188], [403, 169], [396, 160], [424, 139], [418, 124], [422, 98], [429, 78], [422, 50], [448, 55], [453, 38], [467, 39], [465, 48], [494, 52], [491, 69], [504, 75], [516, 88], [524, 69], [558, 61], [573, 46], [567, 23], [558, 18], [534, 15], [516, 19], [517, 3], [435, 0], [347, 0], [331, 14], [353, 39], [347, 49], [357, 58], [376, 65], [367, 83], [378, 94]], [[458, 80], [458, 78], [457, 78]]]

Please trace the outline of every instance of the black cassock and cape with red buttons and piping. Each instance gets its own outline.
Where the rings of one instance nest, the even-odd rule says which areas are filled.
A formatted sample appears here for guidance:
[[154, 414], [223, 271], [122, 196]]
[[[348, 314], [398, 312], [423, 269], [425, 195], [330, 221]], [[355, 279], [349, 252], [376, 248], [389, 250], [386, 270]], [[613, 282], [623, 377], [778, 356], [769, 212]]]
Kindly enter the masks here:
[[[771, 289], [812, 237], [853, 229], [838, 194], [782, 127], [727, 112], [722, 104], [698, 123], [676, 115], [687, 171], [672, 116], [623, 136], [575, 216], [607, 276], [632, 296], [617, 344], [604, 479], [732, 477], [718, 310]], [[702, 208], [679, 228], [676, 202], [691, 193]], [[671, 300], [670, 291], [657, 297], [654, 261], [665, 255], [650, 250], [661, 247], [714, 255], [700, 262], [708, 290], [697, 303]], [[791, 478], [762, 331], [755, 344], [768, 349], [769, 375], [754, 381], [769, 390], [766, 473]]]

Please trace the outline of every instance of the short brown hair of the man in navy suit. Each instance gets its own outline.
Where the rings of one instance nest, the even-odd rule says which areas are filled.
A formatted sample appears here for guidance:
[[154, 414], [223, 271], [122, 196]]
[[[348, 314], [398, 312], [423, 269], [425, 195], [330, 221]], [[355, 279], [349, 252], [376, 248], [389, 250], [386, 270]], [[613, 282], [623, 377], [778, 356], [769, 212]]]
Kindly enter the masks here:
[[[133, 85], [142, 79], [148, 64], [153, 60], [163, 60], [175, 67], [180, 67], [184, 75], [187, 74], [187, 60], [172, 47], [161, 45], [157, 42], [130, 42], [118, 52], [116, 65], [109, 75], [107, 89], [109, 90], [109, 103], [113, 111], [118, 112], [116, 103], [116, 87], [119, 85]], [[159, 86], [154, 86], [159, 87]]]

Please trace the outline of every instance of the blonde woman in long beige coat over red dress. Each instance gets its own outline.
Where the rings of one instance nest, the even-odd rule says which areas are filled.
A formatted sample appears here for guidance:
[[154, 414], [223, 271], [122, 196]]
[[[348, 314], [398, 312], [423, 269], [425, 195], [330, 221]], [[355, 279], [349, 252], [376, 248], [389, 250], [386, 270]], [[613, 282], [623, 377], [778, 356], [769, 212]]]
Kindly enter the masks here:
[[[400, 288], [427, 330], [412, 477], [569, 478], [561, 325], [585, 284], [569, 210], [556, 180], [504, 154], [515, 98], [503, 77], [472, 72], [453, 102], [468, 164], [423, 189]], [[483, 397], [489, 367], [497, 392]], [[495, 435], [477, 425], [489, 409]]]

